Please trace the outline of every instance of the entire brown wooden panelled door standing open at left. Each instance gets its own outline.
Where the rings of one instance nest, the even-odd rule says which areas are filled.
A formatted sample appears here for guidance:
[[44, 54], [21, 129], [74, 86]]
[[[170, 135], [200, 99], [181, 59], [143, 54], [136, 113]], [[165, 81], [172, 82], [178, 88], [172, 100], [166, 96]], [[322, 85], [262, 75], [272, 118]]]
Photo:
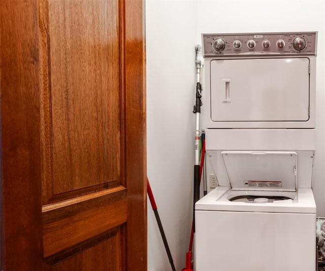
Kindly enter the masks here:
[[5, 270], [146, 270], [142, 1], [1, 1]]

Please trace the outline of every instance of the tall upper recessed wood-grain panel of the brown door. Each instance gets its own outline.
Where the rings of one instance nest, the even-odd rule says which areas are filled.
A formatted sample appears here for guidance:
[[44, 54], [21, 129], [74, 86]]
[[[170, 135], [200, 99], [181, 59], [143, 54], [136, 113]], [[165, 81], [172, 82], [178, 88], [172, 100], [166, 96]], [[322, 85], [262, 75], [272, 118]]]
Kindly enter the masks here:
[[43, 2], [40, 28], [44, 202], [73, 190], [118, 185], [118, 2]]

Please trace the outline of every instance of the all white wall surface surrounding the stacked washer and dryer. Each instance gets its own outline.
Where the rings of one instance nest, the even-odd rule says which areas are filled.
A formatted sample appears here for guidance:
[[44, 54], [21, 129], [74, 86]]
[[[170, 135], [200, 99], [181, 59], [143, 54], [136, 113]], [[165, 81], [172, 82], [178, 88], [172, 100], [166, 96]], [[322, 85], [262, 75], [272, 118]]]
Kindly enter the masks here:
[[[325, 216], [324, 17], [325, 1], [147, 0], [148, 177], [177, 270], [185, 267], [192, 218], [194, 47], [201, 33], [318, 31], [313, 191], [317, 215]], [[171, 270], [149, 201], [148, 270]]]

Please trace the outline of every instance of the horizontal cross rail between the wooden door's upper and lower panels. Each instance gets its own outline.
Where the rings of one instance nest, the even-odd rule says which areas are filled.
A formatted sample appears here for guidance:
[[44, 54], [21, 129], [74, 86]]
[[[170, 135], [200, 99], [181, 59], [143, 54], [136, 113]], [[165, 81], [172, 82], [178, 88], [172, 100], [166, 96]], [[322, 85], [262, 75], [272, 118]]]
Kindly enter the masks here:
[[48, 257], [126, 222], [122, 186], [43, 207], [43, 256]]

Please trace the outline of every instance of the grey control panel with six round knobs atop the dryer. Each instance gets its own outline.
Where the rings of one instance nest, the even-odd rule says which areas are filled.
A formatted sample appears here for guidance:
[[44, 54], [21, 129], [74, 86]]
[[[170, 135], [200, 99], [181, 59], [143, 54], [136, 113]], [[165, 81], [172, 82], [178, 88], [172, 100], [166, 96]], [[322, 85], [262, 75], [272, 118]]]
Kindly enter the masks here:
[[317, 32], [202, 34], [204, 56], [316, 55]]

